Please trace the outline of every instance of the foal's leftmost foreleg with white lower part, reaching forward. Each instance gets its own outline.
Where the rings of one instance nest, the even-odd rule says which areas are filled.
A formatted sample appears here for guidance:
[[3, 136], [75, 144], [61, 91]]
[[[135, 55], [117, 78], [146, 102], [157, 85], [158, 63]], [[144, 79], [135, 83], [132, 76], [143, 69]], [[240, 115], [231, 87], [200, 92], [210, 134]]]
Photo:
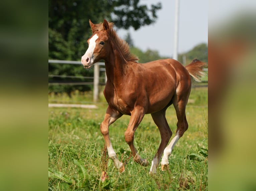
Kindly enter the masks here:
[[116, 152], [114, 151], [110, 138], [109, 138], [109, 125], [114, 123], [118, 118], [120, 118], [122, 114], [120, 114], [118, 111], [113, 110], [111, 107], [107, 108], [105, 118], [101, 123], [101, 133], [103, 134], [103, 137], [105, 139], [107, 149], [108, 149], [108, 155], [113, 160], [115, 167], [120, 171], [124, 172], [125, 168], [123, 166], [123, 163], [120, 162], [116, 156]]

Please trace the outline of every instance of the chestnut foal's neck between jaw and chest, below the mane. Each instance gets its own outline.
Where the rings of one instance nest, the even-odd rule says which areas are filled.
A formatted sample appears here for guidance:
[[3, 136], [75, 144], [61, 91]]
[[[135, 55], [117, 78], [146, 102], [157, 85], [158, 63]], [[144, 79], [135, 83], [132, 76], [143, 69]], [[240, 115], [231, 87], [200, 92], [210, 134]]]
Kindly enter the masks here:
[[109, 57], [105, 60], [107, 79], [113, 84], [115, 83], [114, 80], [122, 80], [123, 76], [126, 74], [128, 64], [119, 48], [115, 46], [114, 43], [111, 43]]

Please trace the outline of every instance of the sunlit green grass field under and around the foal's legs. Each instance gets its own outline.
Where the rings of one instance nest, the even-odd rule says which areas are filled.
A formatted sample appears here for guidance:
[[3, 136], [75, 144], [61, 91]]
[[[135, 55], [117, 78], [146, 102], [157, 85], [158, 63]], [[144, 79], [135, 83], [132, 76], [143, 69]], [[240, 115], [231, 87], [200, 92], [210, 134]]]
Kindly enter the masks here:
[[[208, 190], [208, 89], [193, 88], [186, 108], [188, 130], [169, 157], [169, 170], [150, 175], [150, 166], [133, 162], [124, 140], [129, 116], [122, 116], [110, 126], [110, 138], [125, 172], [119, 173], [108, 160], [100, 132], [107, 103], [97, 109], [49, 108], [49, 190]], [[49, 103], [90, 103], [91, 95], [75, 92], [49, 95]], [[176, 114], [173, 106], [166, 111], [173, 132]], [[172, 136], [173, 138], [173, 136]], [[160, 143], [160, 134], [151, 115], [145, 115], [135, 132], [135, 146], [143, 158], [151, 160]], [[102, 171], [107, 173], [105, 180]]]

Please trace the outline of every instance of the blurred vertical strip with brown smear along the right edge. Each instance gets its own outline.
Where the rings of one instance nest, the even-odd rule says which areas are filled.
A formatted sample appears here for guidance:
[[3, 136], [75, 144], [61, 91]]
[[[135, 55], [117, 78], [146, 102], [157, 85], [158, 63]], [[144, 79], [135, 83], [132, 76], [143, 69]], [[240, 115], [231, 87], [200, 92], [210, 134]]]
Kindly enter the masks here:
[[209, 1], [209, 188], [255, 190], [256, 2]]

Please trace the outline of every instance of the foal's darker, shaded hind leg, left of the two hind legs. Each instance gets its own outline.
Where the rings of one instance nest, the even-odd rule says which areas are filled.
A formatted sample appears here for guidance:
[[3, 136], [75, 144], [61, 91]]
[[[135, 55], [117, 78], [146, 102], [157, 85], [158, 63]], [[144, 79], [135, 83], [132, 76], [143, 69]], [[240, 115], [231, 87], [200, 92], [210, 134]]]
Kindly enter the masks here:
[[167, 123], [167, 120], [165, 118], [166, 108], [164, 108], [163, 110], [158, 111], [156, 113], [151, 113], [151, 116], [159, 129], [159, 132], [161, 135], [161, 142], [160, 142], [157, 152], [152, 160], [151, 168], [149, 171], [150, 174], [156, 173], [156, 168], [159, 165], [160, 158], [163, 154], [163, 150], [166, 147], [166, 145], [168, 144], [168, 142], [171, 138], [171, 135], [172, 135], [171, 129], [170, 129], [170, 127]]

